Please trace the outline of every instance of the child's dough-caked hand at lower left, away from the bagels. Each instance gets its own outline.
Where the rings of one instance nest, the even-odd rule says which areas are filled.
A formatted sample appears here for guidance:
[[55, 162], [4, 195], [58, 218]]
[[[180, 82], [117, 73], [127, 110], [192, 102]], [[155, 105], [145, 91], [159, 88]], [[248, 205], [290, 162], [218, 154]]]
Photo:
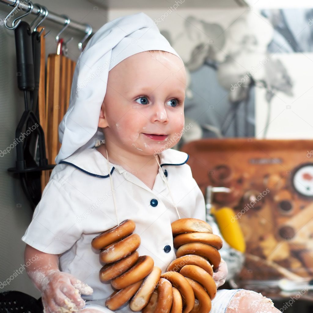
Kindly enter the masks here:
[[40, 284], [45, 313], [77, 312], [85, 306], [80, 294], [93, 290], [73, 275], [59, 270], [49, 272]]

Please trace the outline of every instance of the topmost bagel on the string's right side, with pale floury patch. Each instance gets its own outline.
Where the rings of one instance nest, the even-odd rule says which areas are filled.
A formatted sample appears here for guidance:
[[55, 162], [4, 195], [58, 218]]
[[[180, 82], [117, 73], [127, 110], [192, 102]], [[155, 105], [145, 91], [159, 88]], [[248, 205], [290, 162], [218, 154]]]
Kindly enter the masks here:
[[173, 236], [180, 233], [212, 233], [212, 227], [198, 218], [180, 218], [171, 224]]

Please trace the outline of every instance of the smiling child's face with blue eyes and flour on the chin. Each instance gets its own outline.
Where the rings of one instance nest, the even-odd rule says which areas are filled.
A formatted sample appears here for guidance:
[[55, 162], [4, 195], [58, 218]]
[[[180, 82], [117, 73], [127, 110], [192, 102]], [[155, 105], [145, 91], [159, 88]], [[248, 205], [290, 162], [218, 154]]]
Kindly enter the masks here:
[[106, 142], [142, 155], [175, 146], [184, 127], [185, 89], [184, 65], [174, 54], [145, 51], [117, 64], [109, 72], [99, 119]]

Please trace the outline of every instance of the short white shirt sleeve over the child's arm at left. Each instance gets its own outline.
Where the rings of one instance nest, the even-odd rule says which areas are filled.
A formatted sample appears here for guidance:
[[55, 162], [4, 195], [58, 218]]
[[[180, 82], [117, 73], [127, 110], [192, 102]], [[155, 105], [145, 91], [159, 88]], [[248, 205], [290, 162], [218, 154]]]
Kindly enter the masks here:
[[64, 186], [50, 179], [22, 240], [49, 254], [69, 250], [82, 233], [76, 222], [74, 206]]

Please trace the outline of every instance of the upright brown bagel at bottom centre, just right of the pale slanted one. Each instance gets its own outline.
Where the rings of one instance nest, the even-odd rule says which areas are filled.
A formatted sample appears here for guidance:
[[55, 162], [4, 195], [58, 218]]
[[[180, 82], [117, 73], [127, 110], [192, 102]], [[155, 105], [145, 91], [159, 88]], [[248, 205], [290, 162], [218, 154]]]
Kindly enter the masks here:
[[154, 313], [169, 313], [173, 302], [172, 284], [165, 278], [160, 278], [157, 286], [157, 301]]

